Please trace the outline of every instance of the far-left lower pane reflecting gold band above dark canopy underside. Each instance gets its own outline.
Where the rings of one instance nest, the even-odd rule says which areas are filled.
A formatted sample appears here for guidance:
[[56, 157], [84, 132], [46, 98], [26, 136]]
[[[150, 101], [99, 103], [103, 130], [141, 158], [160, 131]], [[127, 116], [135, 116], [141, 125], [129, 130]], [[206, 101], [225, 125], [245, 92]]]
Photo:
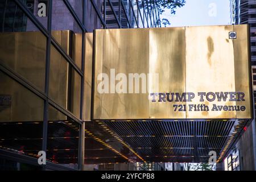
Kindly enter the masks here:
[[0, 148], [37, 158], [42, 150], [43, 100], [0, 72]]

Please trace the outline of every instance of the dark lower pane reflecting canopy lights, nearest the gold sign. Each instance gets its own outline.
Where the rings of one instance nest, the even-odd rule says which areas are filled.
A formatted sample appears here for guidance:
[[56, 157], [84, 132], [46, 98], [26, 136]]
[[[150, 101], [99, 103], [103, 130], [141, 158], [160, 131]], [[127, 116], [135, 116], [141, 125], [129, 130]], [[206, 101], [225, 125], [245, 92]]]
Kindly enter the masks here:
[[78, 168], [79, 124], [49, 105], [47, 160]]

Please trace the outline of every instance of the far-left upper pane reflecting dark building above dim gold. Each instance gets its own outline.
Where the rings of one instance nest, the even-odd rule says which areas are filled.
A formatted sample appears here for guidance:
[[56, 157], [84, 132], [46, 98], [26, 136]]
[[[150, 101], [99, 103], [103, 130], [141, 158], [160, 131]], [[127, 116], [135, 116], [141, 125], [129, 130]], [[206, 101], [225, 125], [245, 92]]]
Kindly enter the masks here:
[[1, 1], [0, 5], [4, 7], [0, 9], [0, 27], [6, 32], [0, 34], [1, 64], [44, 91], [46, 37], [39, 31], [24, 32], [32, 22], [13, 1]]

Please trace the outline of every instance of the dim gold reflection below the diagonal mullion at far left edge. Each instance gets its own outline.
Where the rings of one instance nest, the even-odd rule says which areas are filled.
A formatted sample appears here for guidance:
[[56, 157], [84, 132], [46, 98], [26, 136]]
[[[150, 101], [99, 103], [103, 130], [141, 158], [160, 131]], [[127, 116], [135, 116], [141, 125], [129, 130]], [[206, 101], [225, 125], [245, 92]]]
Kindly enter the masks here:
[[44, 102], [0, 71], [0, 122], [43, 121]]

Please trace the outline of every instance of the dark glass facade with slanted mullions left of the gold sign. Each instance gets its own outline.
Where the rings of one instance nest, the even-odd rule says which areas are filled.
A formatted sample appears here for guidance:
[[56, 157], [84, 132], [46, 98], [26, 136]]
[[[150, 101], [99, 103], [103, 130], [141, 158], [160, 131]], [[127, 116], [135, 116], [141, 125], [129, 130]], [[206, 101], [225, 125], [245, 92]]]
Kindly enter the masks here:
[[[100, 123], [89, 122], [84, 128], [90, 103], [84, 101], [85, 75], [91, 74], [85, 52], [92, 44], [85, 33], [160, 27], [156, 1], [3, 0], [0, 24], [1, 169], [42, 169], [39, 151], [46, 151], [43, 169], [82, 169], [136, 156], [106, 126], [101, 131], [94, 126]], [[99, 134], [92, 137], [88, 129]]]

